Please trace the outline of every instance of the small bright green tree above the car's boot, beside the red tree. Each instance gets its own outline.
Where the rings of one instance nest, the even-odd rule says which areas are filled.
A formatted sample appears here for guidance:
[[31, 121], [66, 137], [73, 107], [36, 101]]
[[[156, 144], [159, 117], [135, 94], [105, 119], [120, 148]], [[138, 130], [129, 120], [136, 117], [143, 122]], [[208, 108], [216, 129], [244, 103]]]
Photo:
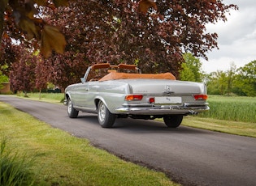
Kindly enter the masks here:
[[202, 82], [202, 62], [191, 53], [184, 54], [184, 63], [181, 64], [180, 80]]

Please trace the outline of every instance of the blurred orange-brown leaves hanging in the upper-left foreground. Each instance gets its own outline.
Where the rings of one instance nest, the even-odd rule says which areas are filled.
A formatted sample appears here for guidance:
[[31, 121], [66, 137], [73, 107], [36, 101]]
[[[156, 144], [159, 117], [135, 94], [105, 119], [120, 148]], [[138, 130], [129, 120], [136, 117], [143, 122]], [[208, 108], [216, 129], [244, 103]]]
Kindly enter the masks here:
[[[0, 0], [0, 39], [6, 30], [6, 36], [12, 35], [18, 38], [25, 36], [26, 40], [41, 40], [41, 53], [49, 57], [52, 50], [63, 53], [66, 45], [65, 37], [59, 32], [58, 27], [47, 24], [41, 18], [41, 6], [67, 5], [67, 0]], [[4, 25], [4, 20], [7, 24]], [[5, 27], [4, 27], [5, 26]], [[17, 29], [17, 28], [20, 28]], [[22, 31], [22, 34], [20, 33]], [[36, 44], [36, 43], [34, 43]]]

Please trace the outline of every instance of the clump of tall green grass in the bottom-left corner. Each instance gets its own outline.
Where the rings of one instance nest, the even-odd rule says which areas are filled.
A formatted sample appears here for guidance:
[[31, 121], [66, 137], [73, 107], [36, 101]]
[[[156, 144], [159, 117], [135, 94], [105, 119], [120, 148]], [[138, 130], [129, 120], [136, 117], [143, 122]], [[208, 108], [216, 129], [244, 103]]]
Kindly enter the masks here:
[[7, 137], [0, 138], [0, 185], [33, 185], [29, 171], [32, 160], [7, 149]]

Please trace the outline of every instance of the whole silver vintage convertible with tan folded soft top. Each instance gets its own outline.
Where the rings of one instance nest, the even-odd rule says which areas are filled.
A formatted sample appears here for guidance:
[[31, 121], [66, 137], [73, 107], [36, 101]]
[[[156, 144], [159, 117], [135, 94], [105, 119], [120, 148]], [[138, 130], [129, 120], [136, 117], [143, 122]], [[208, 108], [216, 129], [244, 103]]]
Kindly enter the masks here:
[[176, 80], [171, 73], [141, 74], [137, 66], [109, 63], [90, 66], [80, 83], [65, 90], [67, 114], [98, 114], [103, 128], [118, 117], [154, 120], [163, 118], [167, 127], [178, 127], [183, 116], [206, 112], [206, 86]]

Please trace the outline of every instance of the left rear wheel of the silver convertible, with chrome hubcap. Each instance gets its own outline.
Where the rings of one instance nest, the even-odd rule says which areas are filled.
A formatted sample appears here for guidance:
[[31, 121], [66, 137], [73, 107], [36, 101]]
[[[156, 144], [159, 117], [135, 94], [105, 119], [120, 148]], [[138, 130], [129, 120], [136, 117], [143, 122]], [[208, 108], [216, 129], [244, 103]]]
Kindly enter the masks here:
[[102, 128], [111, 128], [115, 123], [115, 114], [112, 114], [102, 101], [98, 102], [98, 122]]

